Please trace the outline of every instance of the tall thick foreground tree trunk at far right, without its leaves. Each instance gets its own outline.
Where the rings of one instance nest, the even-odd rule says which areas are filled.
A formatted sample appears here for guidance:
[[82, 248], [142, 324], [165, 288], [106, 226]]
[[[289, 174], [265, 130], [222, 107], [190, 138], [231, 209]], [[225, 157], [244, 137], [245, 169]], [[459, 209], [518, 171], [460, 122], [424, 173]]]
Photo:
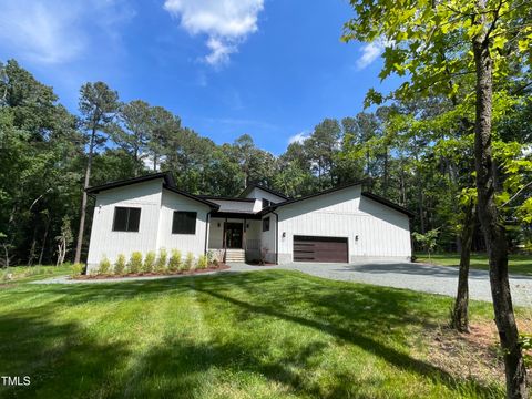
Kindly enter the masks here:
[[[485, 8], [483, 0], [479, 0], [479, 6], [481, 9]], [[479, 23], [485, 24], [485, 21]], [[479, 34], [473, 39], [472, 44], [477, 73], [474, 158], [479, 216], [490, 260], [490, 283], [495, 324], [504, 354], [507, 397], [526, 398], [526, 369], [519, 344], [518, 326], [508, 280], [507, 237], [494, 202], [491, 149], [493, 60], [485, 34]]]

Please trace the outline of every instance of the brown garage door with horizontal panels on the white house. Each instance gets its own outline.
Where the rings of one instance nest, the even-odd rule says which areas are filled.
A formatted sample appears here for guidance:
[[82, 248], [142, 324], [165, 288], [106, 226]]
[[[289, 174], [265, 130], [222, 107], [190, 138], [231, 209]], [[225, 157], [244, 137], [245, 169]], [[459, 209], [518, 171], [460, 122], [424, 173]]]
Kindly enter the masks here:
[[294, 236], [295, 262], [348, 262], [347, 238]]

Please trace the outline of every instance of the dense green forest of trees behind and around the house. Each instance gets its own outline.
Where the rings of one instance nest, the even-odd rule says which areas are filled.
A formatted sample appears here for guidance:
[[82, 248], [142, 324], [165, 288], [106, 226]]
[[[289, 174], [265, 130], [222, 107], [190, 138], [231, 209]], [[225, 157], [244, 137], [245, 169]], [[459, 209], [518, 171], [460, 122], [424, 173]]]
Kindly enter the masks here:
[[[73, 114], [16, 60], [1, 64], [0, 78], [2, 266], [55, 264], [62, 252], [73, 259], [89, 157], [89, 186], [171, 171], [195, 194], [234, 196], [259, 183], [297, 197], [364, 180], [367, 190], [415, 213], [412, 232], [434, 236], [433, 250], [460, 250], [474, 196], [473, 135], [463, 129], [473, 123], [474, 109], [458, 103], [460, 92], [395, 99], [341, 120], [315, 121], [305, 140], [275, 156], [255, 145], [253, 132], [217, 145], [168, 110], [124, 102], [103, 82], [80, 88]], [[531, 90], [512, 81], [494, 103], [497, 198], [515, 252], [532, 245]], [[88, 205], [82, 255], [91, 198]], [[477, 215], [471, 224], [472, 248], [484, 250]], [[424, 250], [424, 243], [413, 245]]]

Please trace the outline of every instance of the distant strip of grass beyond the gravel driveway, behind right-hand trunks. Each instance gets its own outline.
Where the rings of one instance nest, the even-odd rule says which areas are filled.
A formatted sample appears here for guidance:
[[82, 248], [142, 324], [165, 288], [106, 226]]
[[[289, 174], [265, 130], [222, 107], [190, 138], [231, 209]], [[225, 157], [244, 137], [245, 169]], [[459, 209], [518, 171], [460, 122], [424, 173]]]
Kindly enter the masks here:
[[[460, 254], [416, 254], [416, 262], [432, 263], [441, 266], [459, 266]], [[471, 267], [488, 270], [488, 256], [485, 254], [471, 254]], [[513, 274], [532, 276], [531, 255], [510, 255], [509, 270]]]

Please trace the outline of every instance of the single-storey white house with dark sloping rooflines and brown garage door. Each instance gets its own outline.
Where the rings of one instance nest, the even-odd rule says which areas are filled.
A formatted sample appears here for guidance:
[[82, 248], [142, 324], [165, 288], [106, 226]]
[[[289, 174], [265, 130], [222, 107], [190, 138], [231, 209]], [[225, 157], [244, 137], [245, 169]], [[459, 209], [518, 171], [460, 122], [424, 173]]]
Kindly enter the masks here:
[[160, 248], [226, 262], [358, 262], [411, 256], [403, 207], [360, 183], [288, 198], [260, 185], [238, 197], [193, 195], [170, 173], [90, 187], [95, 197], [89, 270], [103, 257]]

